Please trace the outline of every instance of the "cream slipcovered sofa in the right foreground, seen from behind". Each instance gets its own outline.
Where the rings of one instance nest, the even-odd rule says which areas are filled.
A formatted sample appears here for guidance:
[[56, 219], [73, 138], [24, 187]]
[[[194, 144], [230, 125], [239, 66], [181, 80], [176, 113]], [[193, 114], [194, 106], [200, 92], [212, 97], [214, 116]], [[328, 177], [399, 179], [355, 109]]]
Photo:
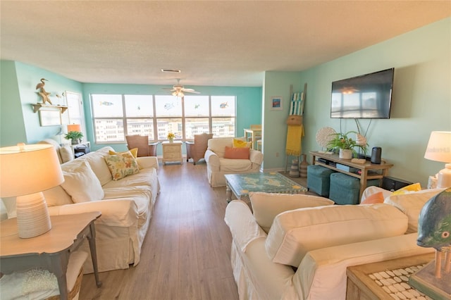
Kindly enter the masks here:
[[345, 299], [347, 266], [431, 253], [416, 245], [416, 226], [421, 207], [441, 190], [358, 206], [314, 204], [307, 195], [289, 195], [285, 206], [288, 195], [251, 193], [254, 214], [231, 201], [225, 220], [240, 299]]

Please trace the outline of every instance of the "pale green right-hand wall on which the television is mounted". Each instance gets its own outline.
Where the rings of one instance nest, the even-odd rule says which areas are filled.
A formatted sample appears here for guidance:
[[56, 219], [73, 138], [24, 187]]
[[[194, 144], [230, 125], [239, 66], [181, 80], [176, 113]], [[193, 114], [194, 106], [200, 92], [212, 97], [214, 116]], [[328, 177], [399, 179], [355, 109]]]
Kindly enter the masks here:
[[[331, 82], [386, 68], [395, 68], [393, 106], [388, 120], [361, 120], [368, 127], [369, 150], [382, 147], [382, 156], [394, 167], [390, 176], [400, 177], [427, 186], [428, 176], [444, 168], [444, 163], [428, 161], [424, 151], [433, 130], [451, 131], [451, 18], [441, 20], [418, 30], [370, 46], [361, 51], [335, 59], [299, 73], [299, 76], [267, 73], [264, 87], [265, 103], [276, 94], [287, 94], [289, 85], [307, 82], [307, 99], [304, 108], [305, 137], [303, 153], [319, 150], [316, 132], [324, 126], [340, 131], [340, 119], [330, 118]], [[282, 94], [285, 99], [285, 94]], [[286, 103], [286, 102], [285, 102]], [[284, 103], [284, 105], [285, 105]], [[264, 135], [267, 125], [274, 120], [271, 133], [286, 131], [283, 119], [288, 115], [264, 112]], [[341, 122], [343, 132], [357, 130], [354, 120]], [[278, 144], [273, 145], [273, 144]], [[274, 151], [282, 151], [285, 140], [278, 138], [271, 145], [264, 142], [265, 168], [283, 167], [283, 159], [274, 158]], [[268, 149], [269, 153], [266, 153]], [[308, 156], [311, 163], [311, 156]]]

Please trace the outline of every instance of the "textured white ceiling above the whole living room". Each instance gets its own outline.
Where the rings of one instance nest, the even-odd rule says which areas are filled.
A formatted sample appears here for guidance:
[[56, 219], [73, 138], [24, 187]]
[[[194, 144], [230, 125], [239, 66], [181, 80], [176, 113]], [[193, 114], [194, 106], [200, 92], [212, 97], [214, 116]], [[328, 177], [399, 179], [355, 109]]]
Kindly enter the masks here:
[[450, 0], [1, 0], [0, 55], [79, 82], [261, 86], [450, 15]]

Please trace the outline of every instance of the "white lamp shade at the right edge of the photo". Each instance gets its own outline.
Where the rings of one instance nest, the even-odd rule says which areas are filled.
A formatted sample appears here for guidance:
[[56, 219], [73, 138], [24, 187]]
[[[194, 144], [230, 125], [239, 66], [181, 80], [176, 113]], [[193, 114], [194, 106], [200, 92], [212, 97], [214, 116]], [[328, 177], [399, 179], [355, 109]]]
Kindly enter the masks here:
[[429, 137], [424, 158], [431, 161], [451, 163], [451, 132], [433, 131]]

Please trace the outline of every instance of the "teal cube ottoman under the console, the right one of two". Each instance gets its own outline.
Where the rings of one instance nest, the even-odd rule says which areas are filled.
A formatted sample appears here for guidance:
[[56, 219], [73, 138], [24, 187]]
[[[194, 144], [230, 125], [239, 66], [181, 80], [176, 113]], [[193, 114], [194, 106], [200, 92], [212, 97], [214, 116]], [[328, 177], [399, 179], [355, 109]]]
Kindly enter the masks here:
[[[372, 179], [366, 181], [366, 186], [379, 186], [381, 180]], [[360, 180], [343, 173], [330, 174], [329, 199], [335, 204], [359, 204], [360, 202]]]

